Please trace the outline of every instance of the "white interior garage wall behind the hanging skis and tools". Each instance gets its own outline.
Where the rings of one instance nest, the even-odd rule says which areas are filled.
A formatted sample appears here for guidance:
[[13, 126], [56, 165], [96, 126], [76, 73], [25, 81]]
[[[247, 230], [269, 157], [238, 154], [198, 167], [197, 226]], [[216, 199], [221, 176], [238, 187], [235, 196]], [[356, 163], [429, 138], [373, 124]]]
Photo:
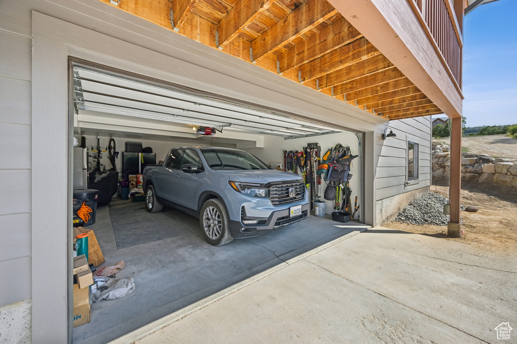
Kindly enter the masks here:
[[[349, 146], [350, 151], [353, 155], [358, 155], [359, 145], [357, 137], [353, 133], [337, 133], [322, 136], [313, 136], [308, 138], [298, 138], [291, 140], [284, 140], [282, 137], [266, 135], [264, 138], [264, 148], [255, 148], [248, 150], [250, 153], [256, 155], [262, 161], [267, 164], [272, 162], [283, 162], [284, 154], [283, 151], [302, 151], [303, 147], [307, 146], [308, 143], [320, 143], [322, 148], [322, 155], [329, 149], [338, 143]], [[353, 177], [350, 181], [350, 188], [352, 189], [351, 202], [354, 206], [355, 196], [359, 196], [359, 158], [354, 159], [351, 172]], [[302, 173], [298, 170], [298, 174], [301, 176]], [[326, 201], [323, 198], [323, 192], [327, 184], [322, 181], [321, 185], [321, 200], [326, 202], [326, 213], [330, 214], [334, 210], [334, 203], [332, 201]], [[360, 201], [358, 201], [360, 204]], [[357, 215], [356, 215], [357, 217]]]

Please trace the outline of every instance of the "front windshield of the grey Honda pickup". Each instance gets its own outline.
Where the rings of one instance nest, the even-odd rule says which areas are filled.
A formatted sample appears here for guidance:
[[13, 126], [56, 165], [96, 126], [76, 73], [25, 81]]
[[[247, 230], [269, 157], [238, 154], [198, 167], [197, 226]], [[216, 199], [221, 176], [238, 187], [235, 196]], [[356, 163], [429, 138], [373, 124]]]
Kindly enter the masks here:
[[238, 150], [204, 149], [201, 151], [212, 170], [268, 170], [252, 154]]

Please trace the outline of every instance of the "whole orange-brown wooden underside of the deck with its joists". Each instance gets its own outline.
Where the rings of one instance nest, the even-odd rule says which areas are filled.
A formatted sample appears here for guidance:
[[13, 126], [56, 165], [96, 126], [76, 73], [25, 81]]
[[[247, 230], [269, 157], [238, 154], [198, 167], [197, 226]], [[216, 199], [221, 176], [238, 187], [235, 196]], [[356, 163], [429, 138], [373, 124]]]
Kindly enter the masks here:
[[326, 0], [118, 0], [116, 6], [386, 119], [442, 113]]

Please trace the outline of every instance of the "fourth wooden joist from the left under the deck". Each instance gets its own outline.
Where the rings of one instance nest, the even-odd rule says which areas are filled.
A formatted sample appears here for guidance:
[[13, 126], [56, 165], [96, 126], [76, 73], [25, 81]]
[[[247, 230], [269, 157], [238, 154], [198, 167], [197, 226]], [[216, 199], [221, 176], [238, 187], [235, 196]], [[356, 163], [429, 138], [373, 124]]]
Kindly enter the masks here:
[[330, 51], [351, 43], [362, 35], [346, 19], [327, 26], [316, 34], [278, 54], [280, 73], [299, 67]]

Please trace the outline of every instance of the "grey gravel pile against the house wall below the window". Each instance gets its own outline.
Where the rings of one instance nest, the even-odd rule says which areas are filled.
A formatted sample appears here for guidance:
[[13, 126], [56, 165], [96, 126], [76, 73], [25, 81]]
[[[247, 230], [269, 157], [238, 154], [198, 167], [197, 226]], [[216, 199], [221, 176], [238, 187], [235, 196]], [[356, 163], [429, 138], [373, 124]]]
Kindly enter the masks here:
[[[449, 222], [449, 215], [444, 215], [444, 205], [447, 203], [447, 198], [442, 195], [426, 193], [409, 202], [394, 221], [416, 225], [446, 226]], [[461, 210], [464, 209], [465, 207], [461, 205]]]

